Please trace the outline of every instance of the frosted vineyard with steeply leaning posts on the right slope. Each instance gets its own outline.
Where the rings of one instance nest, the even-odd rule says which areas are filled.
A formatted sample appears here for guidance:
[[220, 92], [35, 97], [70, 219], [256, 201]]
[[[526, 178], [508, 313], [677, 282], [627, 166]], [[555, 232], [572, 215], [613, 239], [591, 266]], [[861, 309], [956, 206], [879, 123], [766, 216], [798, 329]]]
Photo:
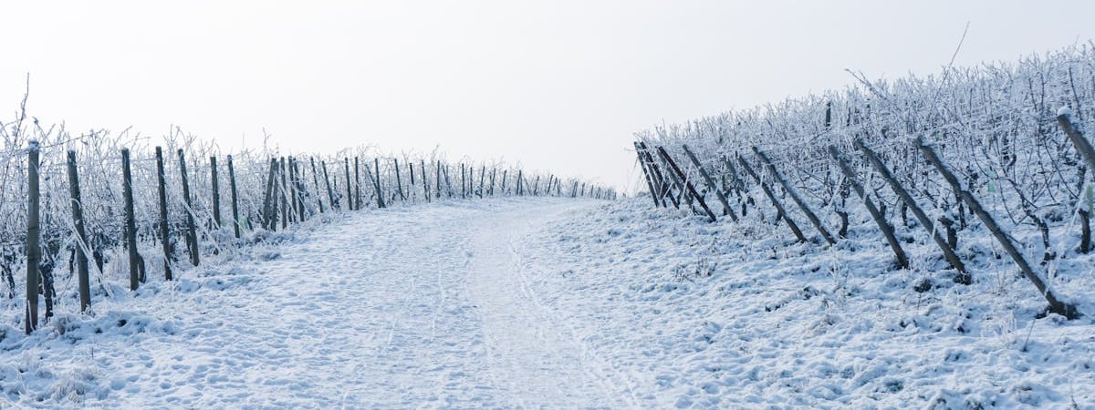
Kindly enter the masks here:
[[1054, 286], [1090, 274], [1060, 263], [1093, 246], [1095, 47], [896, 81], [852, 75], [841, 92], [636, 133], [655, 207], [785, 226], [769, 235], [821, 246], [868, 223], [894, 269], [914, 260], [969, 285], [988, 280], [975, 263], [1007, 260], [1031, 291], [1019, 297], [1079, 317], [1085, 295]]

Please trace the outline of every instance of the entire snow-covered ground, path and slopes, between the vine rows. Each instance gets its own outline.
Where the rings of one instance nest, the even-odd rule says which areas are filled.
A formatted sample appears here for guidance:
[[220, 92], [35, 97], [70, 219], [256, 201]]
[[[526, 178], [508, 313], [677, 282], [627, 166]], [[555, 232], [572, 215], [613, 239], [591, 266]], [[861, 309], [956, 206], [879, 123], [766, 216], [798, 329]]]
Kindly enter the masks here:
[[648, 201], [306, 224], [93, 317], [0, 329], [0, 407], [1095, 408], [1088, 257], [1052, 280], [1087, 316], [1035, 319], [990, 242], [964, 238], [963, 286], [924, 245], [892, 271], [868, 225], [827, 249]]

